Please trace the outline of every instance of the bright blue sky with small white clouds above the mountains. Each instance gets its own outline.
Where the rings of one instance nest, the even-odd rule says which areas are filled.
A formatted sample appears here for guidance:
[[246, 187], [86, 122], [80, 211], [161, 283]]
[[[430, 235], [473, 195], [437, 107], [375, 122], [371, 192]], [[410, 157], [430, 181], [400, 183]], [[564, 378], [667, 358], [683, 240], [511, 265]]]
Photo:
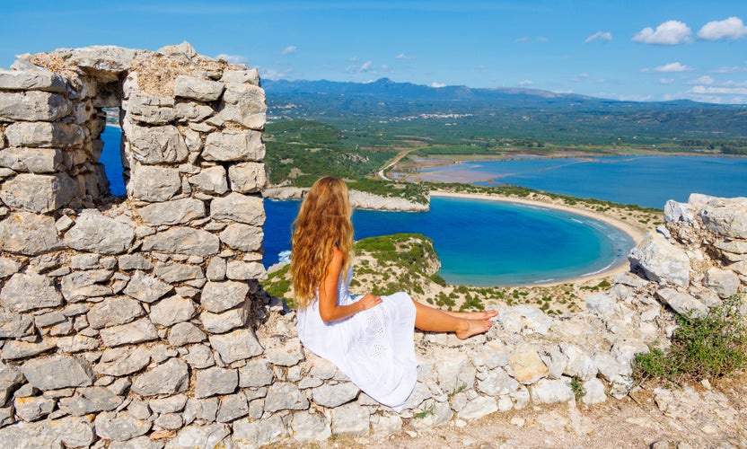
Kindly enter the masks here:
[[0, 19], [3, 68], [25, 52], [188, 40], [266, 79], [747, 104], [744, 0], [5, 0]]

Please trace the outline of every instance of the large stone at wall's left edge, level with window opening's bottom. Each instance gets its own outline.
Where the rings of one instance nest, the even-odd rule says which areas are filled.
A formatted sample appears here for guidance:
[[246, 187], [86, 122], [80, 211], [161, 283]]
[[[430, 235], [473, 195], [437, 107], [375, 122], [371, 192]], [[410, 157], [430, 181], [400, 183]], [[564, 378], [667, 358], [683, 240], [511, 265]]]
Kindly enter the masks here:
[[66, 173], [21, 173], [0, 189], [5, 205], [38, 214], [66, 206], [76, 194], [77, 184]]

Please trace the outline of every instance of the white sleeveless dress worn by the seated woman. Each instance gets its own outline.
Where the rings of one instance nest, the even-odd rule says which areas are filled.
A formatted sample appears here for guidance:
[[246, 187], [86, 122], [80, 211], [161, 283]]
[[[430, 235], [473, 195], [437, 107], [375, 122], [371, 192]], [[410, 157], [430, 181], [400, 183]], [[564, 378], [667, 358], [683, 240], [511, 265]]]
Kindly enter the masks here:
[[[340, 275], [338, 305], [355, 303]], [[337, 365], [361, 391], [401, 411], [415, 388], [415, 304], [406, 293], [382, 296], [382, 303], [344, 320], [325, 323], [319, 314], [319, 296], [298, 310], [296, 324], [303, 346]]]

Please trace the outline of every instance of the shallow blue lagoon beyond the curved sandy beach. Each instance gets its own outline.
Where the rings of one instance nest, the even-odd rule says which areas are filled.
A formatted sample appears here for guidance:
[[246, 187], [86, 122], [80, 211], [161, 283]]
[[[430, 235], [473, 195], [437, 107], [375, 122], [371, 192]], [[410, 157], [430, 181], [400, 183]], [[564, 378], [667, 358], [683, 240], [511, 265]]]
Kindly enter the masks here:
[[513, 184], [530, 189], [664, 208], [690, 193], [747, 195], [747, 158], [615, 156], [593, 159], [517, 159], [457, 163], [421, 171], [426, 180]]

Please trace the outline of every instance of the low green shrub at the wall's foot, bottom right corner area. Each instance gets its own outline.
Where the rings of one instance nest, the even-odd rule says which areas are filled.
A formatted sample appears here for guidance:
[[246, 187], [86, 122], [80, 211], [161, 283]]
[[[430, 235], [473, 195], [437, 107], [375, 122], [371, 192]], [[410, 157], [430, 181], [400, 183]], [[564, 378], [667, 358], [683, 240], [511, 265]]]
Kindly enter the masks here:
[[704, 318], [691, 313], [677, 315], [672, 346], [666, 352], [653, 348], [637, 354], [633, 360], [634, 380], [699, 381], [747, 367], [747, 323], [739, 313], [741, 304], [741, 299], [733, 296]]

